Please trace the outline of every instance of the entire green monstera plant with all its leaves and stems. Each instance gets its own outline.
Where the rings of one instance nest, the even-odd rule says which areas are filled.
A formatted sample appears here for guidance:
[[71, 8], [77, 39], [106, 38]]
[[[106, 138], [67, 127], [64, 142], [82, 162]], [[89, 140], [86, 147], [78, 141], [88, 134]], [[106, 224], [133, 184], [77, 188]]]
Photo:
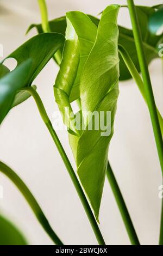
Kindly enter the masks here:
[[[162, 25], [162, 5], [135, 6], [133, 0], [128, 0], [128, 5], [111, 4], [106, 7], [100, 19], [80, 11], [69, 11], [65, 16], [48, 21], [45, 0], [38, 0], [38, 3], [42, 22], [31, 25], [27, 31], [28, 33], [35, 27], [38, 35], [9, 54], [7, 58], [12, 57], [17, 61], [13, 71], [3, 64], [7, 58], [0, 65], [0, 124], [3, 125], [5, 116], [13, 107], [32, 96], [70, 174], [98, 244], [105, 245], [98, 224], [103, 186], [107, 177], [131, 245], [140, 245], [108, 161], [108, 151], [114, 134], [118, 82], [133, 78], [151, 115], [163, 174], [163, 120], [155, 105], [148, 71], [151, 60], [159, 57], [163, 41], [162, 34], [156, 33]], [[120, 8], [129, 9], [132, 30], [117, 24]], [[54, 82], [54, 99], [67, 127], [77, 171], [72, 168], [33, 84], [51, 58], [59, 65]], [[71, 105], [74, 101], [79, 107], [77, 113], [73, 112]], [[97, 116], [100, 119], [97, 120]], [[21, 178], [3, 162], [0, 162], [0, 171], [14, 182], [26, 198], [37, 220], [55, 245], [63, 245]], [[4, 217], [0, 217], [0, 222], [0, 233], [5, 234], [0, 236], [0, 245], [28, 243], [20, 231]], [[159, 243], [163, 245], [163, 206]]]

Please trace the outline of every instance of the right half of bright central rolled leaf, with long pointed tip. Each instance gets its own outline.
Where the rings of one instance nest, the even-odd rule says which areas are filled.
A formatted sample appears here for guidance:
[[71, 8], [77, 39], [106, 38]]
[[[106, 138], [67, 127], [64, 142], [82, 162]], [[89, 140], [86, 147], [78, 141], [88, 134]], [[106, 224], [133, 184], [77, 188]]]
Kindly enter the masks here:
[[[80, 137], [70, 133], [70, 144], [76, 159], [78, 175], [89, 197], [98, 220], [101, 204], [108, 147], [113, 133], [113, 124], [118, 97], [118, 5], [110, 5], [103, 11], [99, 22], [95, 44], [86, 60], [81, 82], [80, 99], [85, 129]], [[103, 112], [106, 120], [107, 111], [111, 111], [111, 123], [106, 124], [110, 133], [102, 136], [102, 129], [87, 129], [90, 121], [94, 124], [91, 113]]]

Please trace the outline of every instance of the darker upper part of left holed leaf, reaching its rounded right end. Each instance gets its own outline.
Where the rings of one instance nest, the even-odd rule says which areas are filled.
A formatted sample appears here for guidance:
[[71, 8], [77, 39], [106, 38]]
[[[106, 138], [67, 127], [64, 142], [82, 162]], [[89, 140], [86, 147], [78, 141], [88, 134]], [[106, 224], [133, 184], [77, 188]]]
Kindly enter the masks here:
[[26, 86], [30, 86], [49, 59], [53, 57], [54, 53], [64, 44], [64, 42], [65, 37], [59, 33], [39, 34], [26, 41], [7, 58], [15, 58], [17, 60], [17, 65], [28, 58], [32, 58], [33, 62], [26, 84]]

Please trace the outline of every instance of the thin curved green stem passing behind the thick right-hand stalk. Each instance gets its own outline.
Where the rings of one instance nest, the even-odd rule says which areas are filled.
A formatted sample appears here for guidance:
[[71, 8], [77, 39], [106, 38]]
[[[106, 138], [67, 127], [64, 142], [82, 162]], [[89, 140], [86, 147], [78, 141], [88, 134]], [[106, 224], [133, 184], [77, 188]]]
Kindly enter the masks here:
[[[145, 94], [145, 88], [144, 88], [144, 84], [142, 81], [141, 76], [139, 75], [139, 72], [137, 71], [133, 61], [131, 60], [128, 52], [123, 48], [123, 46], [118, 45], [118, 51], [120, 52], [124, 63], [126, 64], [131, 76], [133, 77], [133, 79], [135, 80], [141, 95], [143, 96], [143, 99], [145, 100], [145, 102], [147, 103], [147, 99], [146, 99], [146, 94]], [[160, 128], [161, 128], [161, 134], [163, 136], [163, 119], [162, 116], [157, 108], [157, 113], [158, 113], [158, 118], [159, 118], [159, 123], [160, 123]]]

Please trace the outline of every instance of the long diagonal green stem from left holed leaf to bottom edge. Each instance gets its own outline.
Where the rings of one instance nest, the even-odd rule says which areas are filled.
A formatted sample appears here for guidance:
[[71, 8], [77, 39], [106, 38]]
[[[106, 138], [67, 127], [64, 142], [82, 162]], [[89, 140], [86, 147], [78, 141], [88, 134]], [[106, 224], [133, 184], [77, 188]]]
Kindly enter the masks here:
[[87, 217], [89, 218], [89, 221], [90, 221], [91, 227], [92, 227], [92, 229], [93, 229], [93, 231], [95, 233], [96, 239], [97, 239], [99, 245], [105, 245], [103, 236], [101, 234], [101, 231], [99, 230], [98, 224], [97, 224], [96, 219], [95, 219], [95, 217], [94, 217], [94, 215], [92, 213], [90, 205], [87, 202], [85, 194], [84, 194], [84, 192], [82, 190], [82, 187], [80, 186], [80, 183], [79, 183], [79, 181], [77, 179], [77, 176], [76, 176], [76, 174], [75, 174], [75, 172], [74, 172], [74, 170], [73, 170], [73, 168], [71, 166], [71, 163], [68, 160], [68, 157], [67, 157], [67, 155], [65, 153], [65, 150], [62, 147], [62, 144], [60, 143], [59, 138], [58, 138], [56, 132], [53, 129], [52, 123], [51, 123], [51, 121], [48, 118], [48, 115], [47, 115], [45, 107], [43, 106], [43, 103], [42, 103], [42, 101], [40, 99], [39, 94], [37, 94], [37, 92], [32, 87], [24, 88], [22, 90], [26, 90], [27, 92], [29, 92], [34, 97], [34, 100], [36, 102], [37, 108], [39, 109], [41, 118], [42, 118], [43, 122], [45, 123], [45, 125], [47, 126], [47, 129], [51, 133], [53, 141], [54, 141], [55, 145], [57, 146], [57, 149], [58, 149], [58, 151], [60, 153], [60, 156], [61, 156], [62, 160], [64, 161], [64, 164], [66, 166], [68, 174], [70, 175], [70, 178], [71, 178], [71, 180], [73, 182], [73, 185], [76, 188], [78, 196], [79, 196], [79, 198], [80, 198], [80, 200], [81, 200], [81, 202], [83, 204], [84, 210], [86, 212]]

